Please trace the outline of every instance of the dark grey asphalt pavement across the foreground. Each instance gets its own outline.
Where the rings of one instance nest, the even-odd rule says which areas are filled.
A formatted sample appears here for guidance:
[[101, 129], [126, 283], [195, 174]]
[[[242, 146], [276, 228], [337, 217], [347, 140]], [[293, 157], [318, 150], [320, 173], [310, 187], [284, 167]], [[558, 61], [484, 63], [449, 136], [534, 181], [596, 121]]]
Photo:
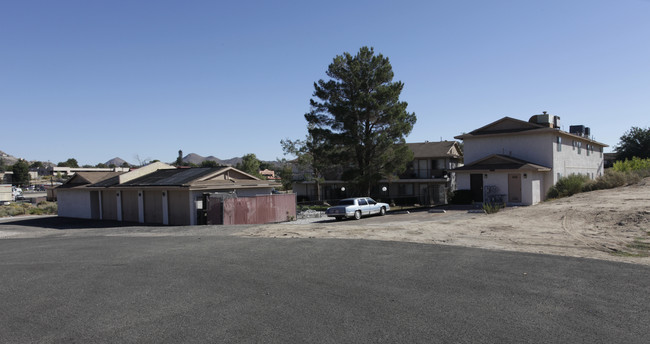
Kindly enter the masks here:
[[647, 343], [650, 269], [237, 227], [0, 221], [1, 343]]

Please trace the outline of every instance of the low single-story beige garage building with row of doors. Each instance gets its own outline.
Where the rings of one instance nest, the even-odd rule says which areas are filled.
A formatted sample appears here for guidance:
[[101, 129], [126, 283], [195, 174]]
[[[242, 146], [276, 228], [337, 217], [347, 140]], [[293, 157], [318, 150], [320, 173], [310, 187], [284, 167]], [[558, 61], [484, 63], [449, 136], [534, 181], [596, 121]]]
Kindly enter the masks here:
[[[202, 223], [206, 195], [271, 195], [278, 187], [233, 167], [153, 163], [130, 172], [78, 172], [57, 188], [59, 216], [162, 225]], [[295, 217], [295, 204], [293, 207]]]

